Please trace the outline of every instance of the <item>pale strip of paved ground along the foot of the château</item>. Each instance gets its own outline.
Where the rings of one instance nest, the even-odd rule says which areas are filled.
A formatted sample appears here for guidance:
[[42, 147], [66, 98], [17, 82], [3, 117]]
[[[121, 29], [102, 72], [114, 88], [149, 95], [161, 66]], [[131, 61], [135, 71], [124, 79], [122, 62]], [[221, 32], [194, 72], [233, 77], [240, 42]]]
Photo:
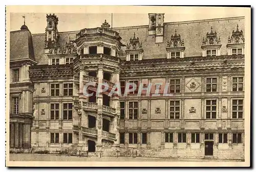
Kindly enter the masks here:
[[[75, 156], [56, 156], [46, 154], [10, 154], [10, 161], [230, 161], [216, 159], [177, 159], [177, 158], [145, 158], [145, 157], [75, 157]], [[238, 161], [238, 160], [233, 160]]]

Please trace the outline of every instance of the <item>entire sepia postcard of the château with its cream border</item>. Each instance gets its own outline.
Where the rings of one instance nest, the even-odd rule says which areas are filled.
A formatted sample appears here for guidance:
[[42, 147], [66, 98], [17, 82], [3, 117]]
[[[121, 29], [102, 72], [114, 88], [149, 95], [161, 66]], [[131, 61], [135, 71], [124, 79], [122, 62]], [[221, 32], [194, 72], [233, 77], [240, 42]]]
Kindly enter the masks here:
[[6, 165], [249, 166], [250, 10], [7, 6]]

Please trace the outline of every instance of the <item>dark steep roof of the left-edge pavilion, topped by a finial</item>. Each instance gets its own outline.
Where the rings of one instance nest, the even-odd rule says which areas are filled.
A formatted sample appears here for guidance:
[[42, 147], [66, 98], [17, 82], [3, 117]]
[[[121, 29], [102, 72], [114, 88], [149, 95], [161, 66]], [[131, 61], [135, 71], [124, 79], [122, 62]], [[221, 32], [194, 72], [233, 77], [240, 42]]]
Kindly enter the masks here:
[[28, 29], [10, 33], [10, 61], [31, 59], [35, 61], [33, 39]]

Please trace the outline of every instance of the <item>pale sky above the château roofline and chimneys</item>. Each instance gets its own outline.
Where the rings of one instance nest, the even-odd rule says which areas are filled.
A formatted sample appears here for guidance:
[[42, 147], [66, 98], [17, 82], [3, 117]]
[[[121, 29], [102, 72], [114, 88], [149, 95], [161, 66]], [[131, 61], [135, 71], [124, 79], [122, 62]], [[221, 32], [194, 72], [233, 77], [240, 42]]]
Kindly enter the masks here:
[[[33, 34], [45, 33], [47, 13], [10, 13], [10, 31], [20, 30], [26, 16], [26, 26]], [[48, 13], [50, 14], [50, 13]], [[111, 25], [111, 13], [55, 13], [59, 18], [58, 31], [79, 31], [84, 28], [100, 27], [106, 19]], [[242, 16], [237, 13], [165, 13], [164, 22], [188, 21]], [[148, 24], [147, 13], [113, 13], [113, 28], [143, 26]]]

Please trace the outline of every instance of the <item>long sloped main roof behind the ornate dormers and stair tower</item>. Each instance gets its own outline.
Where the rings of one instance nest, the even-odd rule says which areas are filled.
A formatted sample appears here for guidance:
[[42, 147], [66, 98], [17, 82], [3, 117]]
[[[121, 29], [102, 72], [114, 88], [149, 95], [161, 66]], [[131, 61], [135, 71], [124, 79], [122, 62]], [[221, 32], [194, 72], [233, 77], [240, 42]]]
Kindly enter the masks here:
[[[143, 59], [156, 59], [166, 58], [165, 48], [167, 41], [175, 34], [175, 30], [177, 30], [177, 34], [180, 34], [181, 39], [184, 39], [184, 57], [202, 56], [202, 39], [206, 36], [207, 32], [210, 33], [211, 27], [214, 32], [217, 32], [217, 36], [221, 39], [221, 55], [226, 55], [228, 36], [231, 36], [232, 31], [236, 30], [237, 24], [239, 30], [244, 31], [244, 17], [164, 23], [163, 43], [155, 43], [155, 35], [148, 35], [148, 26], [113, 28], [113, 30], [120, 34], [123, 44], [129, 42], [130, 38], [132, 38], [135, 33], [136, 37], [139, 38], [139, 41], [142, 42], [143, 45]], [[75, 40], [78, 32], [79, 31], [60, 32], [59, 44], [62, 46], [65, 45], [69, 37], [71, 40]], [[33, 44], [35, 60], [38, 64], [48, 64], [48, 58], [44, 50], [45, 34], [34, 34]], [[125, 56], [125, 47], [122, 47], [120, 58], [125, 59]]]

